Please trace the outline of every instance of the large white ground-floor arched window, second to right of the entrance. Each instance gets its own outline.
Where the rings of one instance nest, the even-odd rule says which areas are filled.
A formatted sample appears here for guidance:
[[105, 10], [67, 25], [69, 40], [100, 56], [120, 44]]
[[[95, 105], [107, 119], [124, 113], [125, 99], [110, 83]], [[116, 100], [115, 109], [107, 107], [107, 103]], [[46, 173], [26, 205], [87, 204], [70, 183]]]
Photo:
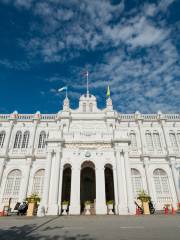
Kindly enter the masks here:
[[156, 169], [153, 178], [157, 200], [166, 202], [171, 197], [167, 173], [162, 169]]

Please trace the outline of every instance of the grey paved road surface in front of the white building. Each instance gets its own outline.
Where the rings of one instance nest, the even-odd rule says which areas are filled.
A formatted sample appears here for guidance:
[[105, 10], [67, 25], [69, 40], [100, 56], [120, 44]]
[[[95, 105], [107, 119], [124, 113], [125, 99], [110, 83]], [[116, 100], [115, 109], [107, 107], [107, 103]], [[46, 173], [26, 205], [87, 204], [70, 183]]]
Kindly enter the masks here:
[[180, 239], [176, 216], [1, 217], [0, 240]]

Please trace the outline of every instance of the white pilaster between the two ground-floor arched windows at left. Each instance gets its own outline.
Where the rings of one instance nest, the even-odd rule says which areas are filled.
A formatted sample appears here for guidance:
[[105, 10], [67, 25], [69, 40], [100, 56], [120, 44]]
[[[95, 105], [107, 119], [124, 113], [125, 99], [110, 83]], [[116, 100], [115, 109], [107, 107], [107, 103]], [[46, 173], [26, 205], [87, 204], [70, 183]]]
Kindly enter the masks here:
[[23, 177], [22, 177], [22, 182], [21, 182], [21, 192], [19, 196], [19, 201], [22, 202], [26, 199], [27, 197], [27, 191], [28, 191], [28, 186], [29, 186], [29, 175], [30, 175], [30, 170], [32, 167], [32, 159], [27, 158], [26, 159], [26, 169], [25, 172], [23, 172]]

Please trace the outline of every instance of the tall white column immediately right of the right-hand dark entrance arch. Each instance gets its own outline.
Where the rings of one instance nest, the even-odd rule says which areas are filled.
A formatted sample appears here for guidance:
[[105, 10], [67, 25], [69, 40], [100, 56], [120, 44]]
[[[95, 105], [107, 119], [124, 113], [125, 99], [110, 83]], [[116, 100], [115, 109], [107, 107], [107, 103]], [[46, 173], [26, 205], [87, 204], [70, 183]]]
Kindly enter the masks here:
[[116, 149], [116, 164], [117, 164], [117, 188], [118, 188], [118, 213], [119, 215], [128, 214], [127, 208], [127, 192], [125, 167], [120, 150]]

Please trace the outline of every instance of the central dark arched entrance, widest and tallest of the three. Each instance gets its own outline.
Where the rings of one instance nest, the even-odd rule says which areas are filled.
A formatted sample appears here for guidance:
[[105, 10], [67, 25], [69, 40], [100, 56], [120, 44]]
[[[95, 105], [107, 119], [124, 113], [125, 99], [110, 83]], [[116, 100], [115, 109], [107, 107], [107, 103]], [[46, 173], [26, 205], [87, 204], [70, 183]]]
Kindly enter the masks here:
[[[96, 199], [95, 166], [92, 162], [84, 162], [81, 166], [81, 213], [84, 211], [84, 203], [91, 202], [92, 211]], [[92, 212], [93, 214], [93, 212]]]

